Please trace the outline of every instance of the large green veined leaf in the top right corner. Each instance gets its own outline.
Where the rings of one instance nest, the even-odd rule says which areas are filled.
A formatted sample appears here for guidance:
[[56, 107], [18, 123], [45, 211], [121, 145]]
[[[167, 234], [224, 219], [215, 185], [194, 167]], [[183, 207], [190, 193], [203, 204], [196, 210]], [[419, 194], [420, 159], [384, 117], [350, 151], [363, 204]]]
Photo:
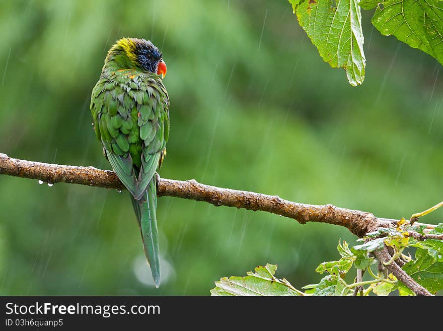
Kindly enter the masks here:
[[364, 9], [377, 7], [371, 22], [383, 35], [394, 35], [398, 40], [443, 63], [443, 2], [361, 0], [359, 5]]

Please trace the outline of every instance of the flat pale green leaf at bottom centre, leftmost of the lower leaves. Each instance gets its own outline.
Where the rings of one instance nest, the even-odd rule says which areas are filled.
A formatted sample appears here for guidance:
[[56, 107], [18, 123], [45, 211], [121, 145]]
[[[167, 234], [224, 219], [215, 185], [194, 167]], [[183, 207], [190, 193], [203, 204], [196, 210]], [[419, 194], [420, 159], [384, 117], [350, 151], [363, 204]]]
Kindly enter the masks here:
[[255, 268], [255, 273], [248, 272], [246, 277], [224, 277], [215, 282], [211, 295], [303, 295], [292, 287], [286, 279], [274, 277], [277, 266], [266, 264]]

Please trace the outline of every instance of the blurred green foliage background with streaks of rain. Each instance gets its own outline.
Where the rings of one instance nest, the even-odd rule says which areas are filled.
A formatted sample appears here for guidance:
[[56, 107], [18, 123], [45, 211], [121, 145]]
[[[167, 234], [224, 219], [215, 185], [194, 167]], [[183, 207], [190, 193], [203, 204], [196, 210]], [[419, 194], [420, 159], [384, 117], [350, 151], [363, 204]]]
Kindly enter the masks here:
[[[409, 217], [442, 200], [443, 84], [430, 56], [363, 13], [362, 86], [319, 57], [285, 0], [0, 3], [0, 152], [110, 169], [90, 95], [121, 37], [168, 65], [160, 173], [287, 200]], [[208, 295], [266, 262], [294, 286], [348, 230], [162, 197], [162, 285], [150, 283], [127, 192], [0, 176], [0, 293]], [[441, 221], [438, 211], [426, 221]]]

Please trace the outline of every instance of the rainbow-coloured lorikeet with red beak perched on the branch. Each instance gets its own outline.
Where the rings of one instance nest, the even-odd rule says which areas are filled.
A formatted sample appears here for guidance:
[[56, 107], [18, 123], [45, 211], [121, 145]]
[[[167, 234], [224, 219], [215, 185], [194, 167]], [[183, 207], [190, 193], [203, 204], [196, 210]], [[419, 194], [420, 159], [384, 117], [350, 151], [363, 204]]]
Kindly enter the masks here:
[[160, 285], [156, 170], [166, 155], [166, 64], [151, 41], [122, 38], [108, 51], [92, 90], [91, 112], [103, 152], [131, 195], [147, 263]]

